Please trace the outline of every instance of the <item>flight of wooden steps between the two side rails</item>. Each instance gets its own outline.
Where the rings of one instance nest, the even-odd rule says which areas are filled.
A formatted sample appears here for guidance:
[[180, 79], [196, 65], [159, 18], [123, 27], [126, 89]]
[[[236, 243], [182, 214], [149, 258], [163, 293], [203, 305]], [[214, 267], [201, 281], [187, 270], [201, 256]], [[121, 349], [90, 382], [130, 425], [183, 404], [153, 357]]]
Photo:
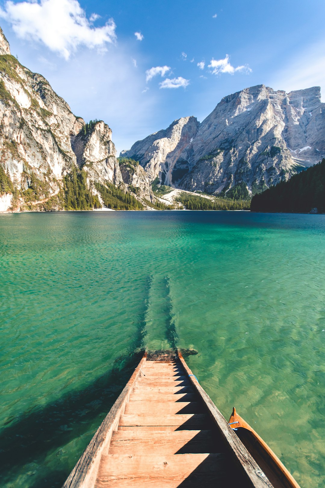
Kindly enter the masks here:
[[101, 455], [95, 487], [246, 486], [179, 359], [147, 360]]

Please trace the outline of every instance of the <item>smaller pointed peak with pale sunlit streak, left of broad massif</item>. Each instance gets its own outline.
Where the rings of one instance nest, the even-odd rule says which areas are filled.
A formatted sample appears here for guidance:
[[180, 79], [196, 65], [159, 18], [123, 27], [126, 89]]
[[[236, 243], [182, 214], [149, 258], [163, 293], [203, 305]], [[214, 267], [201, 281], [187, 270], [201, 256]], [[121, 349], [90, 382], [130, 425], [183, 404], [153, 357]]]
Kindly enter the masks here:
[[162, 183], [171, 184], [173, 172], [179, 171], [175, 163], [194, 138], [199, 125], [195, 117], [183, 117], [172, 122], [166, 130], [135, 142], [130, 150], [122, 151], [121, 156], [139, 161], [150, 181], [159, 176]]

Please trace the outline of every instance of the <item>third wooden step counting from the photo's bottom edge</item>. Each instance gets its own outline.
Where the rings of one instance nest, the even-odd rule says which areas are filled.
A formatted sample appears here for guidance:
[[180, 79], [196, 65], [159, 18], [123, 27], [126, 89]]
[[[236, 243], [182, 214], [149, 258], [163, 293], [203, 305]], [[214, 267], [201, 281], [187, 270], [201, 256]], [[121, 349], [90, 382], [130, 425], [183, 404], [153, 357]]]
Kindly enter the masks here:
[[202, 413], [183, 415], [121, 415], [119, 426], [197, 426], [206, 424], [207, 420], [207, 415]]

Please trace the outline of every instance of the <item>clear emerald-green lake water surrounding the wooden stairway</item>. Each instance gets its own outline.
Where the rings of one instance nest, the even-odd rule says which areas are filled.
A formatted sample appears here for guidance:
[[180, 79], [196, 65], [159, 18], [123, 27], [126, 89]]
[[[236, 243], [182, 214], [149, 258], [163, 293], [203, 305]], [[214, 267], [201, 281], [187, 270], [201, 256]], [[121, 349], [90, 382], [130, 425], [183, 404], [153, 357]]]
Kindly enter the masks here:
[[[325, 485], [325, 216], [0, 215], [1, 487], [60, 487], [141, 346]], [[178, 339], [176, 337], [178, 336]]]

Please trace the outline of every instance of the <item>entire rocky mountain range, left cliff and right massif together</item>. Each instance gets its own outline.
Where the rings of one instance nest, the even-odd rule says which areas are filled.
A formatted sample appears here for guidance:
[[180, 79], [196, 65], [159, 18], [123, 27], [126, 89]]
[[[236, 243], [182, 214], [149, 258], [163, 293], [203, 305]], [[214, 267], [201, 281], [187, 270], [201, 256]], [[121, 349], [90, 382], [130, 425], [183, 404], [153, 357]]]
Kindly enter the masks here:
[[325, 157], [324, 117], [319, 87], [258, 85], [224, 97], [202, 123], [176, 120], [116, 158], [110, 127], [75, 116], [11, 55], [0, 29], [0, 211], [164, 208], [153, 182], [247, 198]]

